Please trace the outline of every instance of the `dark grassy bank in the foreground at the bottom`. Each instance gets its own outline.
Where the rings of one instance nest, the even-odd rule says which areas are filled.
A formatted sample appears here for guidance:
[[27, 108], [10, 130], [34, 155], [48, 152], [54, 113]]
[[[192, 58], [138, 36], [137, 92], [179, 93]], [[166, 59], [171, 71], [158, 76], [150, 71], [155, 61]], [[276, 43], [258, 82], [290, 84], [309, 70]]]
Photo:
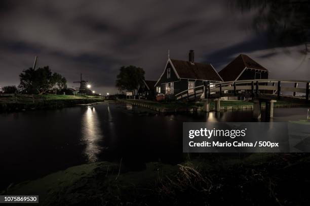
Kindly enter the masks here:
[[98, 162], [13, 185], [2, 194], [37, 194], [41, 205], [306, 205], [306, 154], [210, 153], [142, 171]]

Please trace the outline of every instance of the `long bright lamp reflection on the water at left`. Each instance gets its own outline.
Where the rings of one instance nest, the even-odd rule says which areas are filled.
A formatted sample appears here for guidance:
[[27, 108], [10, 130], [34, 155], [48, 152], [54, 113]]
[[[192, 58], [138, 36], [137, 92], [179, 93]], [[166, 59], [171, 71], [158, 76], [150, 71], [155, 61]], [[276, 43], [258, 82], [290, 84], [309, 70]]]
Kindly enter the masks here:
[[82, 141], [86, 144], [84, 155], [88, 162], [98, 160], [98, 155], [102, 151], [102, 147], [99, 145], [102, 139], [103, 135], [96, 110], [93, 107], [88, 107], [82, 119]]

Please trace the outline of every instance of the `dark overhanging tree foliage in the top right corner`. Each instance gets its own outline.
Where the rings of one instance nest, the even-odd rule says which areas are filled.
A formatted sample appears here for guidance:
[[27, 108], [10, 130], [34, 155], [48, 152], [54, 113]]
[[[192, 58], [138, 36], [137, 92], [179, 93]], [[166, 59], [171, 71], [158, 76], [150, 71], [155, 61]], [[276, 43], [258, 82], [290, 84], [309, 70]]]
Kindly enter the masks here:
[[258, 11], [253, 26], [257, 32], [267, 32], [273, 44], [293, 45], [309, 40], [310, 2], [307, 0], [231, 2], [241, 11]]

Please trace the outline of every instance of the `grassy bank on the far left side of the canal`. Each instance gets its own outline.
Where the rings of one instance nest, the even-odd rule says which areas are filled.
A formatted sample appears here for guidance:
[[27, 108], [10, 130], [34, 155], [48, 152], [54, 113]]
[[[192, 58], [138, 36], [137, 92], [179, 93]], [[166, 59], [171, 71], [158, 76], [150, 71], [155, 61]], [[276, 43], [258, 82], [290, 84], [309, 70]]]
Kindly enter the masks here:
[[1, 112], [19, 112], [27, 110], [41, 110], [41, 109], [58, 109], [64, 107], [71, 107], [81, 104], [92, 104], [103, 101], [101, 97], [97, 96], [73, 96], [73, 95], [34, 95], [16, 96], [14, 98], [0, 99], [0, 113]]

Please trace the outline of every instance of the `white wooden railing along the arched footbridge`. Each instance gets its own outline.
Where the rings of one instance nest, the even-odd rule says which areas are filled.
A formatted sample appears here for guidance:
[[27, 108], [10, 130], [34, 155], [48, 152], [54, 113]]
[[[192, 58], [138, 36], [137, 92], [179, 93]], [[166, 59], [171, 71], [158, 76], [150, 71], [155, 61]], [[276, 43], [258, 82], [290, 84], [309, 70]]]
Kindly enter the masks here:
[[[281, 99], [291, 97], [309, 101], [309, 84], [305, 80], [251, 79], [207, 83], [193, 88], [193, 92], [184, 90], [176, 94], [177, 100], [191, 100], [199, 98], [213, 98], [222, 96], [273, 96]], [[201, 91], [203, 90], [203, 91]]]

